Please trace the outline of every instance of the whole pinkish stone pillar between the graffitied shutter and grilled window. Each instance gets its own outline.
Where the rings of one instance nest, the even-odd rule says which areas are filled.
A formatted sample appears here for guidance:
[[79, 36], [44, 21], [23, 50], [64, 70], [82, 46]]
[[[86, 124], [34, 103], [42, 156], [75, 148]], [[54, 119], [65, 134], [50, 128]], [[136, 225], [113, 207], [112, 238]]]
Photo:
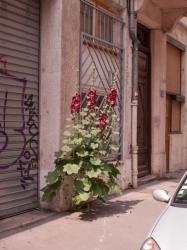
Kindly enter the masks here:
[[54, 152], [62, 145], [70, 115], [78, 78], [80, 34], [80, 1], [41, 2], [40, 188], [45, 185], [44, 176], [54, 169]]

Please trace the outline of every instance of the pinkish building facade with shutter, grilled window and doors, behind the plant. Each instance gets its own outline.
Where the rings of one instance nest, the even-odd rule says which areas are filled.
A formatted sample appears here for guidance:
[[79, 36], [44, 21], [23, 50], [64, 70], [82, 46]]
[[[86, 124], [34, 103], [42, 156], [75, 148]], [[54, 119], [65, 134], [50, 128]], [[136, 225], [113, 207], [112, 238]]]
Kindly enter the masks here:
[[[119, 182], [187, 166], [183, 0], [0, 1], [0, 218], [41, 202], [72, 95], [119, 90]], [[182, 18], [182, 19], [181, 19]], [[53, 209], [66, 210], [62, 190]]]

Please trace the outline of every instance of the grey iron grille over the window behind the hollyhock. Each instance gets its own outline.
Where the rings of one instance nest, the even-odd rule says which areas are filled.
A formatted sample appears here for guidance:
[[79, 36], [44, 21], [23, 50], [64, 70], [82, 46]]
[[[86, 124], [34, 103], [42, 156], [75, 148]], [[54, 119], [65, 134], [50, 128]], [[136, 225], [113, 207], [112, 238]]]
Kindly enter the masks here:
[[[103, 97], [109, 91], [115, 76], [119, 93], [115, 110], [120, 133], [115, 141], [122, 149], [122, 101], [123, 101], [123, 27], [122, 19], [81, 0], [80, 35], [80, 90], [82, 106], [85, 105], [86, 92], [94, 85], [97, 90], [97, 105], [102, 106]], [[121, 150], [118, 156], [121, 155]], [[114, 156], [112, 156], [114, 158]], [[116, 155], [115, 155], [116, 158]]]

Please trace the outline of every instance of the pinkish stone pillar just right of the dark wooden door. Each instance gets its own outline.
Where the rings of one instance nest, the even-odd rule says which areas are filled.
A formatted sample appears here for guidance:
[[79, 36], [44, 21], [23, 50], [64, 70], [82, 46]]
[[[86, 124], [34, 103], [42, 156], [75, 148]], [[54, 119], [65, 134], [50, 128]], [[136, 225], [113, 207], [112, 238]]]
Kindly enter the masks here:
[[151, 165], [152, 174], [162, 176], [166, 171], [166, 35], [161, 30], [153, 30], [151, 43]]

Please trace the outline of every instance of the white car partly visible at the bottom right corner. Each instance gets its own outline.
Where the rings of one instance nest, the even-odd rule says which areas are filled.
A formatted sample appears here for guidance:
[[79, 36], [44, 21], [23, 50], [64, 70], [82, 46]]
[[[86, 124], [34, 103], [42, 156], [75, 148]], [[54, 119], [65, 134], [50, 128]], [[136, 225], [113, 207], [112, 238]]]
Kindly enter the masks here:
[[183, 176], [175, 194], [155, 190], [153, 197], [167, 202], [141, 250], [187, 250], [187, 172]]

